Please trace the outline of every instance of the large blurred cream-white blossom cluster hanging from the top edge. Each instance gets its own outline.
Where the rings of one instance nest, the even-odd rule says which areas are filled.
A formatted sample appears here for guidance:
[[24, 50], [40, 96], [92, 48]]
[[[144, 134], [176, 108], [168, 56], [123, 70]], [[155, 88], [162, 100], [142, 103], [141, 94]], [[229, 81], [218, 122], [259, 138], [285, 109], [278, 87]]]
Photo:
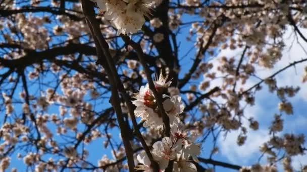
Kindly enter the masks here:
[[93, 0], [104, 13], [105, 19], [118, 30], [117, 34], [132, 34], [145, 23], [150, 9], [159, 5], [161, 0]]

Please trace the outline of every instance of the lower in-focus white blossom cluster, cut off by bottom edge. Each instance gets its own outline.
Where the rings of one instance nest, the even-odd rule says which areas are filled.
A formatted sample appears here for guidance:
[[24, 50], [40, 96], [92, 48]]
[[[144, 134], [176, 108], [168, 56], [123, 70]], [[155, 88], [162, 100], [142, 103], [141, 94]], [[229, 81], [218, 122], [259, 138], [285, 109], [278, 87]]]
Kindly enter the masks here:
[[[200, 153], [200, 144], [193, 143], [196, 138], [195, 134], [188, 134], [179, 129], [180, 126], [173, 125], [171, 137], [164, 137], [162, 141], [157, 141], [152, 145], [152, 156], [158, 162], [162, 171], [165, 170], [171, 160], [174, 161], [173, 171], [197, 171], [190, 158], [198, 162], [196, 156]], [[152, 171], [151, 163], [144, 151], [137, 155], [137, 160], [141, 163], [137, 166], [137, 169]]]

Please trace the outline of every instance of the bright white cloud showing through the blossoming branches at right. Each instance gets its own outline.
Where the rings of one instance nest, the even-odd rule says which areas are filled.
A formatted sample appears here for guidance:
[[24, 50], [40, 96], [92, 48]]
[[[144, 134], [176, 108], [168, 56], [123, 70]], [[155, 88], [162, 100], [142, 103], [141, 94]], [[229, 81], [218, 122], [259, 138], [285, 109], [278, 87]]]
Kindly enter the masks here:
[[[303, 33], [303, 35], [307, 35], [307, 29], [301, 29], [301, 32]], [[296, 38], [294, 37], [292, 28], [287, 28], [287, 32], [284, 35], [284, 40], [285, 40], [286, 47], [282, 52], [283, 54], [282, 59], [274, 66], [274, 69], [268, 70], [268, 69], [264, 69], [261, 66], [257, 66], [255, 68], [257, 75], [260, 76], [261, 78], [266, 78], [267, 76], [287, 66], [289, 63], [293, 61], [301, 60], [302, 58], [307, 58], [307, 54], [302, 48], [302, 47], [306, 47], [307, 49], [307, 43], [304, 42], [301, 38], [297, 38], [296, 40]], [[301, 45], [299, 45], [298, 42]], [[219, 54], [219, 57], [223, 55], [227, 57], [232, 57], [232, 56], [238, 57], [240, 56], [240, 53], [242, 51], [243, 51], [242, 49], [238, 49], [236, 51], [231, 51], [229, 49], [226, 49], [226, 50], [221, 51], [221, 53]], [[214, 59], [212, 60], [212, 62], [217, 63], [217, 60]], [[305, 89], [306, 84], [301, 83], [303, 69], [305, 65], [306, 64], [304, 63], [297, 64], [295, 65], [295, 67], [288, 68], [287, 70], [281, 72], [279, 75], [276, 76], [277, 84], [279, 86], [299, 85], [301, 87], [301, 90], [299, 91], [297, 96], [291, 99], [291, 102], [293, 104], [295, 103], [300, 104], [301, 101], [307, 101], [307, 89]], [[253, 85], [254, 83], [257, 83], [257, 82], [258, 82], [257, 79], [250, 79], [249, 82], [246, 85], [244, 85], [244, 88], [248, 88], [250, 87], [250, 85]], [[216, 85], [221, 85], [221, 80], [212, 82], [212, 87]], [[258, 101], [255, 104], [255, 106], [248, 107], [245, 109], [245, 116], [254, 117], [255, 119], [260, 121], [260, 125], [262, 124], [268, 125], [273, 120], [274, 112], [278, 112], [277, 111], [278, 102], [276, 101], [276, 98], [275, 99], [272, 98], [274, 96], [275, 96], [274, 94], [269, 94], [266, 91], [258, 92], [256, 95], [257, 100], [265, 100], [273, 104], [276, 103], [276, 106], [271, 106], [268, 109], [268, 106], [264, 107], [266, 105], [266, 102], [260, 103]], [[270, 102], [272, 100], [274, 100], [274, 102]], [[306, 104], [306, 102], [304, 103]], [[307, 111], [307, 107], [304, 110]], [[287, 119], [287, 121], [285, 121], [285, 124], [284, 124], [285, 132], [297, 133], [297, 131], [299, 130], [301, 131], [302, 128], [304, 128], [305, 125], [307, 125], [307, 118], [304, 112], [296, 112], [295, 110], [294, 112], [295, 114], [293, 116], [284, 117]], [[244, 124], [246, 126], [247, 124], [246, 120], [244, 121]], [[269, 139], [268, 130], [267, 130], [268, 127], [269, 126], [261, 126], [260, 130], [258, 131], [255, 131], [255, 132], [249, 131], [247, 135], [246, 144], [244, 144], [243, 146], [238, 146], [236, 143], [236, 138], [239, 134], [238, 132], [228, 133], [226, 139], [224, 139], [224, 137], [221, 137], [219, 139], [219, 146], [220, 146], [221, 154], [227, 157], [229, 161], [231, 161], [232, 163], [252, 164], [252, 163], [257, 162], [259, 155], [260, 155], [259, 146]], [[292, 159], [292, 162], [293, 162], [294, 167], [296, 169], [299, 169], [301, 164], [306, 165], [304, 163], [307, 162], [307, 155], [295, 156]]]

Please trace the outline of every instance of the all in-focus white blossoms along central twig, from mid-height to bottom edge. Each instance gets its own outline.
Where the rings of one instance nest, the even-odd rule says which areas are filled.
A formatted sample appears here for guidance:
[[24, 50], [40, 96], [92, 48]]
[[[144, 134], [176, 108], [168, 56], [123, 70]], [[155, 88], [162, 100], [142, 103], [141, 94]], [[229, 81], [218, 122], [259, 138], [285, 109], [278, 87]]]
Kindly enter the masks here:
[[[179, 114], [183, 112], [184, 106], [181, 103], [181, 97], [178, 95], [168, 96], [167, 91], [171, 81], [161, 74], [154, 81], [156, 90], [163, 95], [163, 108], [170, 119], [171, 136], [162, 138], [152, 145], [152, 156], [158, 162], [159, 168], [163, 171], [169, 164], [174, 161], [174, 171], [197, 171], [196, 166], [190, 158], [198, 161], [196, 156], [200, 153], [200, 144], [195, 144], [196, 134], [184, 131], [183, 124], [180, 121]], [[140, 88], [139, 94], [135, 96], [133, 104], [136, 106], [135, 115], [141, 117], [144, 121], [143, 126], [149, 129], [157, 130], [163, 128], [162, 114], [158, 111], [156, 98], [149, 89], [148, 84]], [[137, 155], [137, 160], [142, 165], [137, 169], [151, 171], [152, 166], [148, 156], [143, 151]]]

